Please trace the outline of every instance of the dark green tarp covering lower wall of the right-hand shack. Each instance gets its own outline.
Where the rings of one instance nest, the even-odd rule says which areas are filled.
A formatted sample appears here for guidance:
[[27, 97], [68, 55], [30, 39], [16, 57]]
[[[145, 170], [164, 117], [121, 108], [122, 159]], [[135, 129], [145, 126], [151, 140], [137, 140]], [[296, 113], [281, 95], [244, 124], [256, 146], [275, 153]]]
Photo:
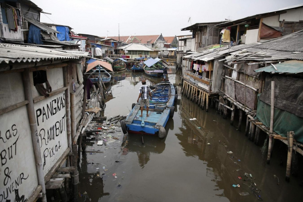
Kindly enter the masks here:
[[[266, 126], [270, 126], [270, 105], [259, 100], [257, 118]], [[303, 143], [303, 118], [278, 108], [274, 109], [273, 131], [287, 137], [287, 131], [295, 132], [295, 140]]]

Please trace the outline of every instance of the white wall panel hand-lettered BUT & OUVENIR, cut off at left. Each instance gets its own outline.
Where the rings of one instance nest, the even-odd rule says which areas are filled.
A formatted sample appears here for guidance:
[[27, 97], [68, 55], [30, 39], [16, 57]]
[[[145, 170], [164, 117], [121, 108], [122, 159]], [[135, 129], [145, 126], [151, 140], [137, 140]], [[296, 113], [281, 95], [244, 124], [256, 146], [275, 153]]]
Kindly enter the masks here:
[[38, 186], [26, 106], [0, 115], [0, 202], [25, 201]]

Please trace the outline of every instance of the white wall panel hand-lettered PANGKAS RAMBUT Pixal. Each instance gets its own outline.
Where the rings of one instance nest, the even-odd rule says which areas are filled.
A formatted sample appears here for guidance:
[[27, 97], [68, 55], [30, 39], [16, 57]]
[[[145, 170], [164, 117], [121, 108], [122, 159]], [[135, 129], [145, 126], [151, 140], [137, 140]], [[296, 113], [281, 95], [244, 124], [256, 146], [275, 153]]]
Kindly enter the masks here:
[[68, 147], [65, 92], [34, 104], [44, 175]]

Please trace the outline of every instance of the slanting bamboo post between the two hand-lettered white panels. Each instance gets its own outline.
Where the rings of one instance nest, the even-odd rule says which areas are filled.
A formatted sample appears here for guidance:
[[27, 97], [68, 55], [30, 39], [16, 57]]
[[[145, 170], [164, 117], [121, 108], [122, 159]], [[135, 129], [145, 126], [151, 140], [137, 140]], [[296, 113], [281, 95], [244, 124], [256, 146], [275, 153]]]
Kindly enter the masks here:
[[26, 107], [27, 107], [28, 121], [29, 121], [30, 128], [31, 128], [32, 144], [33, 144], [34, 155], [35, 155], [38, 184], [42, 186], [42, 201], [46, 202], [43, 163], [42, 163], [42, 158], [41, 158], [38, 127], [37, 127], [37, 122], [36, 122], [36, 118], [35, 118], [35, 108], [34, 108], [34, 101], [33, 101], [33, 96], [32, 96], [32, 89], [31, 89], [31, 82], [30, 82], [28, 68], [26, 68], [24, 70], [24, 72], [22, 73], [22, 80], [23, 80], [23, 86], [24, 86], [25, 99], [28, 100], [28, 104], [26, 105]]

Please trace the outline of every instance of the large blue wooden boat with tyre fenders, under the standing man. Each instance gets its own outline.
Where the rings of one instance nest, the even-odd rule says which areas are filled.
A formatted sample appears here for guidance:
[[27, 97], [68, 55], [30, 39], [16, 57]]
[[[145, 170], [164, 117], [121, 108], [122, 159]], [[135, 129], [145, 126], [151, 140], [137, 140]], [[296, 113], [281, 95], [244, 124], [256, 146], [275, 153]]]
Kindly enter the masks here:
[[175, 107], [173, 105], [178, 99], [176, 91], [177, 88], [168, 81], [158, 83], [151, 94], [152, 99], [162, 98], [161, 104], [150, 103], [149, 116], [146, 117], [146, 108], [144, 108], [142, 118], [139, 116], [141, 115], [140, 100], [138, 103], [133, 103], [132, 111], [128, 117], [125, 121], [120, 121], [123, 133], [153, 134], [158, 135], [160, 139], [164, 139], [167, 135], [164, 127], [168, 118], [174, 116]]

